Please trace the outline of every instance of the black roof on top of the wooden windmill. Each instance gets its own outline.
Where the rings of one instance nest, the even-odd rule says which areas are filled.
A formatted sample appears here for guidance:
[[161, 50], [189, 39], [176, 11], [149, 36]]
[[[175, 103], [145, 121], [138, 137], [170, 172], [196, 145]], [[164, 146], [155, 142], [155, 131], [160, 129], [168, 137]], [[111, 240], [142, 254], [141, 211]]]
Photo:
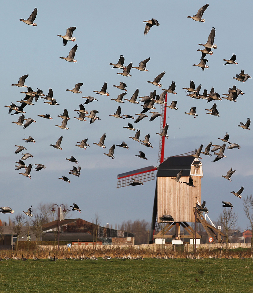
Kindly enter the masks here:
[[174, 156], [169, 157], [158, 166], [157, 177], [176, 177], [180, 170], [183, 170], [182, 176], [190, 176], [191, 165], [198, 165], [200, 161], [194, 162], [192, 156]]

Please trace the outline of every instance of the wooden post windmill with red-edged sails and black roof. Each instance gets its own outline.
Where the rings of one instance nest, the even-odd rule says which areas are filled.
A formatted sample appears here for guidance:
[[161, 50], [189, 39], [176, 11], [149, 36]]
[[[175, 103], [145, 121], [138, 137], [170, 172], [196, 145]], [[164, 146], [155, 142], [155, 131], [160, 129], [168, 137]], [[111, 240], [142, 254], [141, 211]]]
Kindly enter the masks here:
[[[167, 94], [165, 96], [165, 102], [167, 102]], [[166, 104], [161, 104], [162, 117], [160, 132], [162, 132], [163, 127], [166, 125], [166, 110]], [[218, 241], [218, 229], [216, 229], [212, 222], [209, 224], [206, 221], [208, 215], [206, 213], [203, 215], [202, 212], [195, 213], [195, 209], [193, 208], [196, 203], [199, 204], [201, 202], [201, 178], [203, 177], [201, 161], [192, 156], [195, 154], [195, 151], [164, 158], [164, 146], [165, 137], [160, 136], [158, 167], [147, 166], [117, 175], [117, 188], [129, 186], [130, 180], [133, 179], [142, 182], [154, 180], [154, 171], [157, 171], [151, 224], [153, 235], [151, 235], [150, 242], [152, 243], [154, 238], [173, 237], [175, 240], [184, 237], [194, 238], [194, 229], [188, 222], [194, 222], [195, 220], [203, 225], [209, 237], [213, 237], [214, 241]], [[188, 182], [189, 176], [191, 176], [195, 187], [171, 179], [171, 177], [176, 177], [177, 173], [181, 170], [183, 170], [181, 181]], [[167, 214], [173, 217], [172, 221], [166, 222], [160, 219], [160, 217]], [[210, 218], [209, 220], [211, 221]], [[180, 235], [180, 226], [185, 229], [189, 235]], [[166, 235], [173, 227], [175, 227], [175, 235]], [[223, 236], [224, 239], [225, 235], [222, 233], [220, 233], [220, 235]], [[201, 238], [201, 236], [196, 234], [196, 238]]]

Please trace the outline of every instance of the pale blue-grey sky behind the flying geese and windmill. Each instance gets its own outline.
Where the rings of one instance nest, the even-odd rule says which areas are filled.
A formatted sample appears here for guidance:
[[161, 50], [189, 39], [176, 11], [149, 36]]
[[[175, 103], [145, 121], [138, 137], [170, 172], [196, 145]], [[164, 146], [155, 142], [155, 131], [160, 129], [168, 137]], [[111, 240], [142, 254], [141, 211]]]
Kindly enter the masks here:
[[[122, 93], [113, 85], [122, 81], [127, 85], [127, 95], [139, 88], [139, 96], [149, 95], [153, 90], [158, 94], [161, 89], [146, 83], [163, 71], [166, 74], [161, 79], [163, 88], [168, 88], [172, 80], [176, 83], [177, 95], [168, 95], [168, 104], [177, 100], [179, 110], [167, 110], [167, 123], [169, 124], [169, 139], [165, 142], [165, 157], [186, 153], [198, 148], [202, 143], [204, 147], [212, 141], [220, 144], [218, 137], [223, 137], [226, 132], [230, 141], [240, 144], [241, 149], [225, 151], [227, 158], [212, 162], [215, 156], [204, 156], [203, 172], [201, 179], [201, 196], [206, 200], [209, 216], [213, 221], [222, 212], [221, 201], [230, 201], [239, 216], [238, 224], [246, 229], [248, 221], [243, 212], [242, 199], [236, 198], [230, 192], [239, 190], [244, 186], [242, 197], [252, 193], [252, 131], [237, 127], [240, 121], [246, 122], [252, 118], [252, 80], [242, 83], [232, 79], [239, 74], [241, 69], [253, 76], [252, 59], [249, 50], [252, 48], [250, 28], [252, 27], [252, 3], [250, 1], [209, 1], [209, 7], [204, 12], [205, 23], [199, 23], [187, 18], [196, 14], [206, 1], [62, 1], [61, 5], [54, 1], [19, 1], [4, 2], [1, 8], [1, 25], [5, 28], [2, 38], [2, 106], [0, 107], [2, 140], [1, 140], [1, 206], [10, 206], [15, 213], [26, 210], [30, 205], [36, 207], [40, 202], [55, 202], [61, 204], [76, 202], [87, 221], [94, 218], [98, 212], [101, 224], [115, 225], [123, 220], [146, 219], [151, 221], [155, 180], [147, 182], [144, 186], [125, 187], [116, 189], [117, 174], [142, 168], [149, 165], [157, 166], [159, 136], [155, 134], [160, 130], [160, 120], [149, 122], [149, 118], [137, 123], [135, 128], [141, 130], [141, 139], [150, 133], [153, 148], [139, 145], [129, 138], [133, 131], [124, 129], [127, 122], [133, 119], [117, 119], [109, 117], [118, 105], [122, 114], [137, 117], [141, 113], [140, 105], [133, 105], [127, 101], [124, 104], [116, 103], [111, 98], [117, 98]], [[13, 8], [14, 7], [14, 8]], [[36, 27], [18, 21], [27, 19], [34, 7], [38, 8], [35, 22]], [[68, 7], [68, 9], [66, 9]], [[11, 11], [11, 13], [10, 13]], [[144, 20], [155, 18], [160, 26], [154, 26], [144, 36]], [[64, 35], [66, 29], [76, 26], [73, 36], [76, 42], [68, 42], [63, 47], [62, 39], [58, 34]], [[216, 28], [215, 43], [218, 48], [212, 56], [206, 56], [209, 68], [204, 72], [198, 64], [201, 58], [200, 48], [197, 44], [205, 43], [211, 28]], [[69, 50], [77, 44], [75, 59], [77, 63], [66, 62], [59, 59], [66, 57]], [[230, 59], [236, 54], [238, 65], [223, 66], [223, 59]], [[111, 69], [109, 63], [117, 63], [119, 56], [124, 55], [125, 63], [133, 62], [137, 67], [139, 62], [150, 57], [147, 63], [148, 72], [131, 69], [132, 77], [117, 75], [118, 69]], [[40, 88], [43, 93], [48, 93], [52, 87], [54, 98], [60, 105], [51, 106], [44, 104], [45, 100], [38, 100], [35, 105], [25, 107], [25, 118], [33, 118], [37, 123], [32, 123], [26, 129], [17, 126], [12, 121], [17, 121], [19, 115], [8, 115], [11, 102], [21, 100], [24, 95], [20, 93], [23, 88], [10, 86], [15, 84], [20, 76], [29, 74], [25, 84], [34, 90]], [[205, 100], [196, 100], [186, 96], [182, 89], [188, 87], [190, 80], [195, 86], [202, 84], [208, 93], [211, 86], [220, 94], [228, 93], [228, 87], [235, 84], [245, 95], [240, 95], [237, 103], [228, 100], [217, 101], [220, 117], [206, 115], [205, 109], [211, 108], [213, 103]], [[95, 95], [93, 91], [100, 91], [104, 82], [107, 82], [107, 91], [110, 96]], [[73, 94], [66, 89], [71, 89], [76, 83], [83, 82], [82, 94]], [[82, 96], [94, 96], [94, 101], [86, 106], [88, 111], [98, 110], [101, 120], [92, 125], [73, 119], [76, 116], [74, 109], [79, 103], [84, 103]], [[139, 98], [138, 98], [139, 100]], [[198, 117], [184, 114], [191, 107], [196, 107]], [[54, 125], [60, 125], [61, 118], [57, 115], [67, 108], [71, 120], [62, 130]], [[160, 106], [156, 107], [160, 111]], [[53, 120], [37, 116], [50, 114]], [[148, 113], [148, 115], [151, 115]], [[252, 118], [253, 119], [253, 118]], [[105, 151], [93, 144], [98, 142], [103, 133], [106, 133]], [[36, 144], [25, 143], [22, 139], [32, 136]], [[57, 150], [49, 146], [55, 144], [63, 135], [61, 147]], [[88, 138], [90, 147], [83, 150], [75, 146], [77, 142]], [[113, 144], [125, 141], [129, 150], [115, 148], [112, 160], [103, 155], [108, 152]], [[15, 161], [21, 158], [20, 154], [13, 154], [14, 145], [23, 145], [34, 158], [29, 158], [25, 163], [42, 163], [46, 166], [39, 172], [32, 170], [31, 179], [18, 174], [14, 167]], [[134, 155], [144, 151], [148, 161]], [[68, 174], [73, 164], [65, 158], [74, 156], [82, 169], [81, 176], [77, 178]], [[35, 167], [35, 166], [34, 166]], [[232, 182], [225, 180], [221, 175], [233, 167], [236, 169]], [[23, 170], [21, 170], [23, 172]], [[71, 184], [59, 180], [59, 177], [68, 176]], [[15, 215], [15, 214], [14, 214]], [[11, 217], [14, 217], [12, 215]], [[71, 214], [72, 216], [72, 214]], [[73, 217], [76, 217], [73, 214]], [[2, 215], [2, 220], [7, 220], [8, 215]]]

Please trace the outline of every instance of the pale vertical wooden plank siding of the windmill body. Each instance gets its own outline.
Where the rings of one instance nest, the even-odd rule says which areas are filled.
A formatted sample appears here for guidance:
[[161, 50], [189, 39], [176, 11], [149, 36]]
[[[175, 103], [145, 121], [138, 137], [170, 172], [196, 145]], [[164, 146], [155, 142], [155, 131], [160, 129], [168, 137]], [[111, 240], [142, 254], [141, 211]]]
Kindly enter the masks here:
[[[201, 202], [201, 177], [192, 176], [195, 188], [170, 177], [157, 177], [158, 222], [164, 214], [170, 214], [175, 222], [194, 222], [193, 207], [197, 200]], [[180, 180], [189, 182], [189, 177], [181, 177]]]

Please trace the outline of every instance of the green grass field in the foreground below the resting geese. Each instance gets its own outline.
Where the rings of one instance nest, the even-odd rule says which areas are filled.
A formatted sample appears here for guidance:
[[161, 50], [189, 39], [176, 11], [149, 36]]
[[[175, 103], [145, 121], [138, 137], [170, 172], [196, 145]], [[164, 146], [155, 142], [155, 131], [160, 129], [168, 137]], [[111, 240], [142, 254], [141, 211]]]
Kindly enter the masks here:
[[0, 292], [248, 293], [252, 272], [252, 259], [7, 260]]

